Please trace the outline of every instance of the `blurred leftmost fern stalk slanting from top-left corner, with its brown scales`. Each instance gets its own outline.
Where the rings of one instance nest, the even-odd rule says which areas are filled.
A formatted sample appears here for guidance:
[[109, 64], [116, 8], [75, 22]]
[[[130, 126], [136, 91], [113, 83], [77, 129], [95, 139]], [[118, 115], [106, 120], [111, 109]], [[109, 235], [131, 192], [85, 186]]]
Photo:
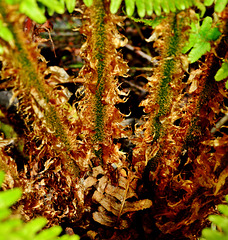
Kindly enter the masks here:
[[[52, 139], [52, 143], [50, 142], [50, 144], [52, 144], [51, 148], [56, 151], [57, 155], [61, 155], [63, 159], [65, 159], [64, 164], [71, 174], [73, 176], [79, 176], [79, 168], [70, 157], [70, 151], [73, 146], [72, 139], [69, 139], [68, 126], [64, 123], [62, 116], [60, 116], [60, 109], [51, 104], [56, 96], [51, 93], [50, 87], [47, 86], [44, 81], [43, 71], [46, 66], [44, 63], [38, 63], [39, 53], [37, 52], [36, 46], [32, 42], [29, 44], [26, 43], [26, 41], [30, 40], [24, 36], [21, 25], [15, 23], [15, 20], [13, 22], [10, 20], [10, 10], [7, 12], [6, 6], [7, 5], [4, 5], [4, 2], [1, 1], [0, 13], [2, 16], [5, 16], [4, 21], [8, 24], [14, 36], [15, 47], [10, 49], [7, 58], [13, 59], [13, 67], [17, 69], [15, 88], [18, 89], [19, 94], [23, 96], [20, 106], [21, 114], [27, 116], [27, 121], [34, 121], [35, 113], [34, 110], [31, 109], [35, 105], [34, 102], [38, 104], [38, 107], [41, 108], [43, 112], [44, 123], [38, 123], [35, 120], [33, 127], [37, 124], [35, 128], [42, 129], [38, 131], [39, 137], [42, 137], [42, 135], [50, 136], [50, 132], [52, 132], [49, 139]], [[22, 19], [18, 15], [17, 21], [20, 22]], [[34, 100], [31, 102], [31, 99]], [[31, 105], [29, 106], [29, 104]], [[46, 129], [42, 127], [44, 125], [46, 125]], [[34, 138], [34, 136], [31, 137]], [[61, 146], [60, 148], [62, 148], [63, 151], [61, 151], [59, 147], [56, 147], [58, 145]]]

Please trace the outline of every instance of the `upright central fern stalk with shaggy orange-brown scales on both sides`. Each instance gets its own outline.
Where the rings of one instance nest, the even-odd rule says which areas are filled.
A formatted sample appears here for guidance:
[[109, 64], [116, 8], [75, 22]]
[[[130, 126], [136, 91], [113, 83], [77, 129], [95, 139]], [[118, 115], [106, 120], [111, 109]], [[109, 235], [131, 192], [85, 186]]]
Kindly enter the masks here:
[[127, 64], [116, 50], [123, 44], [116, 28], [122, 18], [110, 14], [108, 6], [106, 1], [96, 0], [85, 13], [89, 19], [82, 28], [87, 41], [82, 46], [86, 64], [80, 76], [85, 79], [86, 90], [80, 103], [81, 118], [84, 132], [90, 133], [85, 139], [96, 157], [103, 163], [122, 164], [123, 154], [113, 139], [125, 134], [119, 124], [123, 118], [115, 105], [123, 102], [117, 77], [126, 73]]

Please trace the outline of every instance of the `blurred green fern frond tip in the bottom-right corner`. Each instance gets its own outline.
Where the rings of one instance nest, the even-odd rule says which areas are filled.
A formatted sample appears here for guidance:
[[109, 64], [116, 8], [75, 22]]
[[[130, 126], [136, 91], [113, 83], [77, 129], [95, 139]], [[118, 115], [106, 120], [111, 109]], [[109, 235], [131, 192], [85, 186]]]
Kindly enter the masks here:
[[[228, 202], [228, 195], [226, 196]], [[210, 215], [209, 220], [217, 227], [205, 228], [201, 240], [227, 240], [228, 239], [228, 205], [218, 205], [218, 210], [223, 215]], [[219, 229], [219, 230], [218, 230]]]

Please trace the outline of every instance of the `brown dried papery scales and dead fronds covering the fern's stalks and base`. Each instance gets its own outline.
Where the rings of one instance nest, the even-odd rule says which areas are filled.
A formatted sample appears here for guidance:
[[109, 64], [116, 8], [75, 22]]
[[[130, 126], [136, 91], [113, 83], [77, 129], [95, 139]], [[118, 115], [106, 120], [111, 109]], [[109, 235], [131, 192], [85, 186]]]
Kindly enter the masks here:
[[[76, 84], [78, 79], [70, 79], [63, 69], [47, 68], [37, 45], [20, 30], [24, 17], [15, 15], [14, 9], [7, 12], [7, 21], [14, 27], [23, 46], [21, 51], [32, 63], [42, 88], [37, 90], [36, 84], [23, 80], [30, 76], [21, 65], [22, 52], [17, 45], [8, 46], [1, 75], [10, 79], [1, 89], [14, 88], [19, 108], [17, 114], [6, 109], [2, 112], [24, 141], [27, 158], [21, 156], [24, 164], [18, 170], [18, 160], [9, 154], [11, 140], [1, 138], [0, 168], [7, 172], [4, 189], [23, 188], [22, 199], [14, 209], [25, 220], [42, 215], [49, 220], [48, 226], [65, 224], [91, 239], [138, 239], [141, 235], [146, 239], [196, 239], [208, 214], [228, 193], [228, 138], [221, 132], [211, 133], [221, 111], [227, 113], [223, 102], [227, 92], [222, 83], [214, 81], [219, 60], [213, 52], [220, 51], [219, 45], [189, 73], [186, 56], [177, 51], [170, 94], [166, 96], [170, 104], [159, 118], [162, 134], [154, 141], [153, 119], [159, 112], [159, 88], [169, 38], [173, 36], [171, 21], [154, 30], [159, 36], [154, 42], [154, 48], [161, 52], [159, 66], [148, 78], [149, 94], [141, 103], [146, 113], [144, 124], [136, 129], [135, 136], [130, 136], [121, 125], [124, 116], [116, 108], [117, 103], [125, 101], [120, 95], [127, 97], [118, 85], [118, 77], [125, 76], [128, 70], [117, 51], [126, 43], [116, 28], [123, 19], [109, 13], [108, 3], [103, 6], [102, 1], [95, 2], [104, 11], [102, 60], [97, 50], [99, 9], [83, 7], [81, 33], [86, 42], [81, 52], [85, 65], [79, 78], [85, 96], [77, 109], [68, 104], [67, 89], [58, 86], [68, 81]], [[185, 18], [189, 18], [188, 13], [177, 15], [177, 21]], [[181, 24], [180, 35], [185, 39], [185, 23]], [[99, 64], [103, 64], [102, 73]], [[186, 75], [188, 80], [184, 82]], [[101, 81], [103, 137], [97, 140], [96, 92]], [[62, 136], [51, 124], [55, 118], [50, 113], [58, 116]], [[126, 137], [136, 144], [132, 163], [126, 160], [120, 144], [114, 143], [114, 139]], [[142, 220], [140, 230], [136, 215]]]

